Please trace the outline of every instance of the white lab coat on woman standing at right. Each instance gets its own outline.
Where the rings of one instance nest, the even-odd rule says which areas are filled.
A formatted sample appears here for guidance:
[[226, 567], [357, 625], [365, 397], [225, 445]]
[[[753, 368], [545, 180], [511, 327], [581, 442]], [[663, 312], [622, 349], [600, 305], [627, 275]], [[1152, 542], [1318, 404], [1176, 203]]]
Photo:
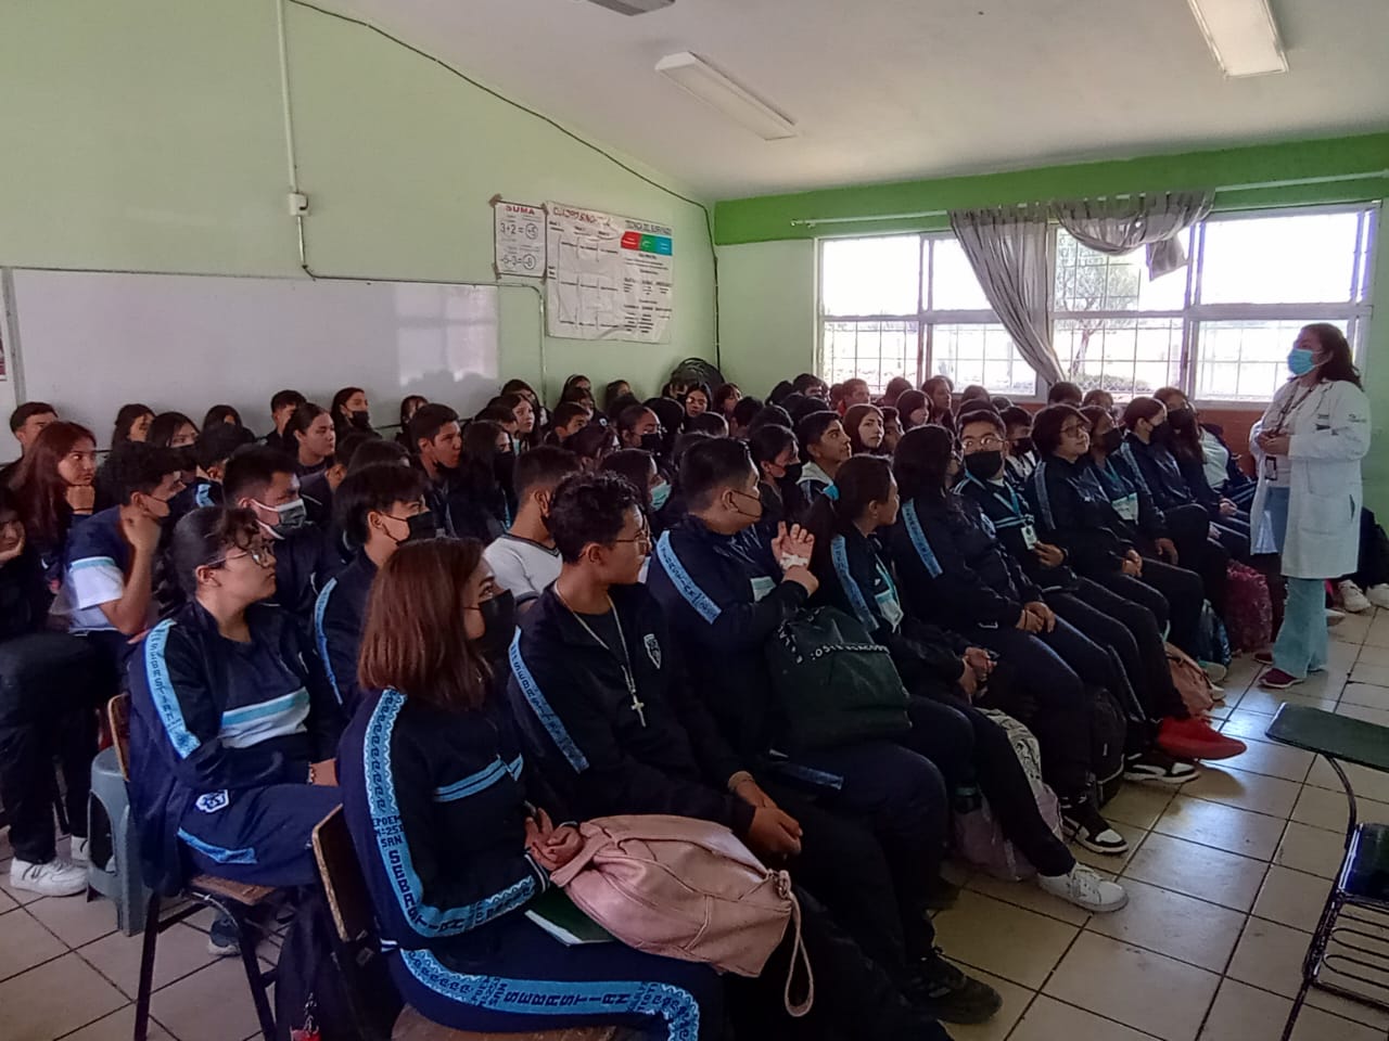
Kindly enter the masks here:
[[[1256, 552], [1274, 550], [1267, 508], [1270, 484], [1256, 439], [1265, 423], [1276, 421], [1288, 397], [1300, 393], [1296, 380], [1285, 384], [1250, 430], [1249, 447], [1258, 465], [1258, 489], [1249, 511], [1250, 544]], [[1278, 465], [1286, 469], [1279, 477], [1286, 477], [1289, 490], [1283, 575], [1295, 579], [1350, 575], [1360, 557], [1364, 502], [1360, 461], [1370, 451], [1370, 400], [1354, 383], [1324, 380], [1289, 418], [1283, 433], [1292, 434], [1288, 457], [1278, 457]]]

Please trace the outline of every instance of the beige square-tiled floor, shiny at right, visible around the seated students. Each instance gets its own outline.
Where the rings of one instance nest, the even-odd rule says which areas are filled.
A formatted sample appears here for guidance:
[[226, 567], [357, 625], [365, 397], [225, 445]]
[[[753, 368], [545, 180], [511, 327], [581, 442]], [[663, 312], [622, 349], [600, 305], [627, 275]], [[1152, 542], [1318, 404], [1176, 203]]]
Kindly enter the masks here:
[[[1332, 670], [1279, 697], [1236, 662], [1221, 726], [1249, 743], [1178, 794], [1129, 786], [1106, 813], [1124, 858], [1081, 851], [1118, 873], [1129, 906], [1086, 915], [1032, 884], [965, 876], [936, 916], [947, 954], [1003, 994], [1003, 1010], [958, 1041], [1274, 1041], [1340, 861], [1345, 798], [1324, 762], [1270, 744], [1281, 701], [1389, 725], [1389, 612], [1333, 630]], [[1350, 769], [1361, 812], [1389, 822], [1389, 775]], [[139, 940], [104, 902], [33, 899], [8, 890], [0, 833], [0, 1038], [126, 1041]], [[256, 1022], [235, 960], [207, 955], [206, 912], [160, 937], [157, 1041], [243, 1041]], [[272, 952], [269, 952], [272, 954]], [[1313, 992], [1299, 1041], [1382, 1041], [1389, 1016]]]

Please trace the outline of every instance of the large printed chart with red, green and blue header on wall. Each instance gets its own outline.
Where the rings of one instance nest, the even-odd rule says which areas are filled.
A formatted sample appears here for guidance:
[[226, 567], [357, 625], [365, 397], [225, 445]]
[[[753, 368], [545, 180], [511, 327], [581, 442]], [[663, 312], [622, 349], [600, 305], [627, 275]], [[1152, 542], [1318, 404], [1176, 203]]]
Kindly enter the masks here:
[[674, 237], [665, 225], [547, 203], [550, 336], [668, 343]]

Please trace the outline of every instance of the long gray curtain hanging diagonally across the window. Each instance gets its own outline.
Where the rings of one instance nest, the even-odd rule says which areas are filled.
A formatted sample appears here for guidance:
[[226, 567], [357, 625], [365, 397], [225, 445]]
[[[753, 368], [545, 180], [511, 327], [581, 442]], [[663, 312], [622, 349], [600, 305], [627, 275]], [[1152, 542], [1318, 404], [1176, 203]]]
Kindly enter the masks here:
[[1003, 328], [1047, 384], [1063, 379], [1051, 347], [1051, 258], [1045, 205], [958, 210], [950, 228]]

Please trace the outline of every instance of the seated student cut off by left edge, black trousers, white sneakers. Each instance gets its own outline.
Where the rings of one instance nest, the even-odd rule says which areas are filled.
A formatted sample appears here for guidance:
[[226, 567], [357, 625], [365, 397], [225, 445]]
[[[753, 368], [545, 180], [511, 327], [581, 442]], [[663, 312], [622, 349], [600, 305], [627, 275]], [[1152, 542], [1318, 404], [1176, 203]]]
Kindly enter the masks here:
[[[10, 888], [86, 892], [88, 791], [97, 709], [115, 693], [101, 655], [47, 630], [53, 594], [28, 544], [15, 494], [0, 486], [0, 804], [10, 822]], [[63, 765], [69, 859], [53, 830], [53, 759]]]

